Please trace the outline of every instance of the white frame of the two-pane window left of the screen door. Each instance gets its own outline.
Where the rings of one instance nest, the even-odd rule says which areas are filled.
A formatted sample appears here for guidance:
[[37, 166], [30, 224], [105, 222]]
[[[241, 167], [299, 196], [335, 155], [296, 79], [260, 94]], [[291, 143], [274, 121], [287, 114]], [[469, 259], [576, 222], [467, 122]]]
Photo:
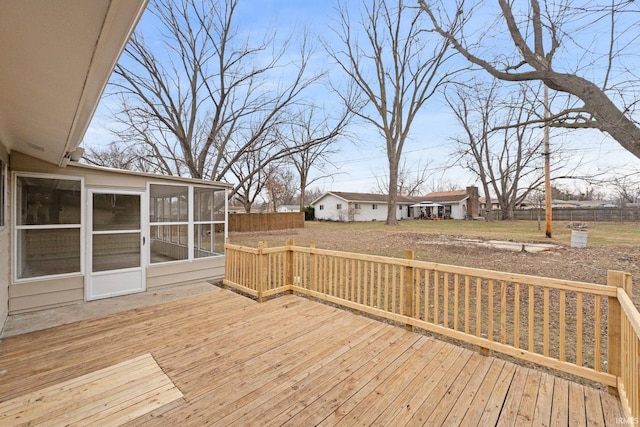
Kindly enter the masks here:
[[[59, 225], [18, 225], [18, 212], [16, 209], [18, 206], [18, 177], [27, 177], [27, 178], [43, 178], [43, 179], [64, 179], [69, 181], [80, 181], [80, 225], [74, 224], [59, 224]], [[39, 282], [43, 280], [49, 279], [64, 279], [66, 277], [83, 277], [85, 274], [85, 204], [86, 204], [86, 188], [84, 186], [84, 177], [75, 176], [75, 175], [58, 175], [58, 174], [48, 174], [48, 173], [37, 173], [37, 172], [20, 172], [15, 171], [11, 174], [12, 179], [12, 198], [11, 204], [13, 209], [13, 229], [12, 229], [12, 242], [11, 242], [11, 250], [13, 251], [13, 260], [11, 263], [11, 267], [13, 272], [11, 274], [13, 283], [33, 283]], [[73, 228], [80, 230], [80, 271], [73, 273], [63, 273], [63, 274], [49, 274], [46, 276], [38, 276], [38, 277], [27, 277], [23, 279], [18, 278], [18, 231], [19, 230], [46, 230], [46, 229], [63, 229], [63, 228]]]

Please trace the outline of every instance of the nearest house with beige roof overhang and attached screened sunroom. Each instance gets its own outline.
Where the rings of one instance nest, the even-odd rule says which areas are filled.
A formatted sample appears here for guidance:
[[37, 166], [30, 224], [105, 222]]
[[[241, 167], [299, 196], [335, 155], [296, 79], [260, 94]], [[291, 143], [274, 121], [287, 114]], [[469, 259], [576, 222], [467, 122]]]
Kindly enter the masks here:
[[0, 327], [224, 275], [228, 185], [75, 162], [145, 7], [0, 2]]

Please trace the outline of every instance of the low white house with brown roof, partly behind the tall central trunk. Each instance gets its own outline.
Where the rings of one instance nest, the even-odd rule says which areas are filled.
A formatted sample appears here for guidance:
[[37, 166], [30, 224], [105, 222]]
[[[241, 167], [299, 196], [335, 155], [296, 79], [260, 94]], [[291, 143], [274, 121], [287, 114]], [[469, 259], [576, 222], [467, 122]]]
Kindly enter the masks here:
[[[398, 196], [396, 218], [411, 218], [411, 205], [415, 197]], [[315, 218], [327, 221], [386, 221], [387, 195], [371, 193], [345, 193], [329, 191], [314, 200], [311, 205]]]

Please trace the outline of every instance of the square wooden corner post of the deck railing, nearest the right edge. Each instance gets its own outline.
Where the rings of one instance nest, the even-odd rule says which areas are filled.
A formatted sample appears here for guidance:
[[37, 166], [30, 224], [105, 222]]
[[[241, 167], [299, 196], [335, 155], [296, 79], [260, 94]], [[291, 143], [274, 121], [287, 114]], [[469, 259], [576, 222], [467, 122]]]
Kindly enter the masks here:
[[[607, 285], [625, 288], [625, 273], [622, 271], [607, 271]], [[625, 289], [626, 290], [626, 289]], [[607, 314], [607, 367], [611, 375], [616, 378], [622, 373], [622, 309], [617, 297], [609, 297]], [[617, 394], [617, 389], [609, 387], [609, 393]]]

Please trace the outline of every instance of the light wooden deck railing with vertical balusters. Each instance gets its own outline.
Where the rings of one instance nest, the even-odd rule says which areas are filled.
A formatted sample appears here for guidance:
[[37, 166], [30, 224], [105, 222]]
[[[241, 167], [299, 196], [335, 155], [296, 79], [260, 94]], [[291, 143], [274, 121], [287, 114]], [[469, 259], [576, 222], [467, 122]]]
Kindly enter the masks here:
[[607, 285], [295, 246], [226, 245], [224, 284], [259, 301], [297, 292], [617, 389], [640, 416], [631, 275]]

